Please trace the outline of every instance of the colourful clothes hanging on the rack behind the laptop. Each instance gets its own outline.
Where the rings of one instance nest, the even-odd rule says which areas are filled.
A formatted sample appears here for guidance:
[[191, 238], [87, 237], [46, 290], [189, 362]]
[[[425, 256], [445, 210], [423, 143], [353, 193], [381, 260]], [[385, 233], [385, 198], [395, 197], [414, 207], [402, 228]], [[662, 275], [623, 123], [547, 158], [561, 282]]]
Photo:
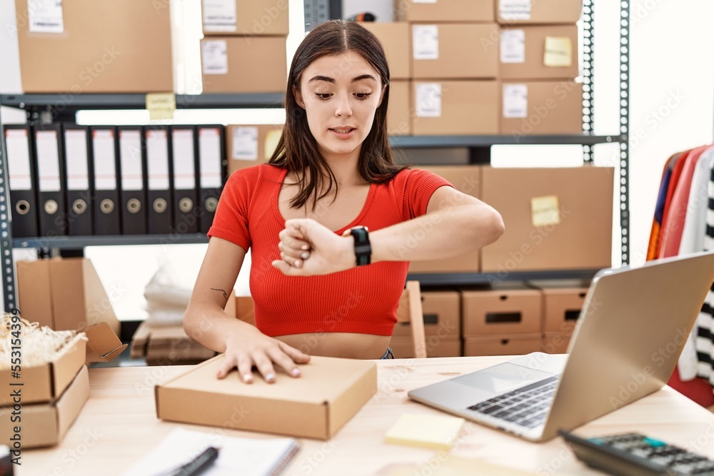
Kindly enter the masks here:
[[[714, 250], [714, 145], [675, 153], [663, 168], [647, 260]], [[714, 289], [714, 285], [713, 285]], [[710, 291], [669, 384], [714, 405], [714, 293]]]

